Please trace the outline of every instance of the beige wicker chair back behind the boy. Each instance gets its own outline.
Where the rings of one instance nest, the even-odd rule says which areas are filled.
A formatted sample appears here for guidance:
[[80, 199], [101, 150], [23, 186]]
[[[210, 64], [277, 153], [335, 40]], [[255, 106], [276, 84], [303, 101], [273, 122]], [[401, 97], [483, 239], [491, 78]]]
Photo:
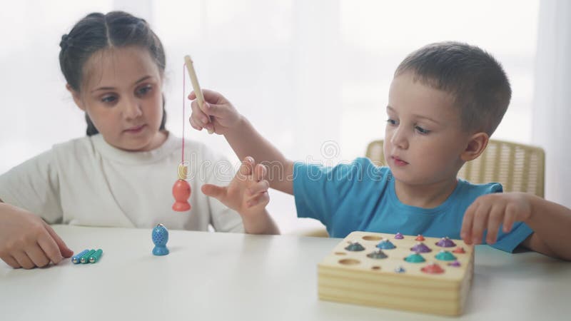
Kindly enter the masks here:
[[[365, 156], [385, 163], [383, 140], [372, 141]], [[505, 192], [544, 195], [545, 151], [540, 147], [490, 139], [480, 157], [460, 168], [458, 177], [471, 183], [502, 183]]]

